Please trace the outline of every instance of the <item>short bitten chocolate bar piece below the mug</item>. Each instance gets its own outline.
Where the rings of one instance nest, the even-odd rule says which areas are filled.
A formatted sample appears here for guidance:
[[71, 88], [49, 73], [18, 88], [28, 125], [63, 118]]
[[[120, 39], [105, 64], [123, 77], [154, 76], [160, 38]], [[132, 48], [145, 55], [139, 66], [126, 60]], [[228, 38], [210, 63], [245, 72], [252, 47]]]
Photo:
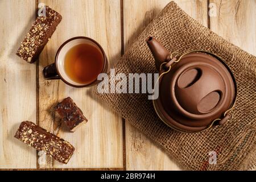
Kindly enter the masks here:
[[67, 97], [55, 106], [55, 111], [59, 117], [67, 125], [68, 129], [74, 132], [81, 123], [86, 123], [87, 119], [72, 98]]

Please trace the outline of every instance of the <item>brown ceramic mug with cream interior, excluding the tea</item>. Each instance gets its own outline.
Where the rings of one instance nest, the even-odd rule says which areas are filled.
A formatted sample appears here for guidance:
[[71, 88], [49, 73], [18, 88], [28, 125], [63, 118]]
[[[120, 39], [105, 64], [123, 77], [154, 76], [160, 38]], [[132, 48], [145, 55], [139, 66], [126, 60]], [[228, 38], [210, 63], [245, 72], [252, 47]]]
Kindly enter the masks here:
[[[56, 56], [55, 56], [55, 63], [48, 65], [47, 67], [44, 67], [43, 69], [43, 75], [44, 78], [47, 80], [56, 80], [61, 79], [66, 84], [73, 86], [73, 87], [87, 87], [97, 84], [99, 81], [97, 80], [97, 77], [93, 79], [90, 82], [82, 83], [77, 82], [76, 80], [72, 79], [67, 73], [67, 70], [65, 69], [65, 57], [67, 56], [67, 53], [74, 48], [75, 46], [78, 46], [79, 44], [89, 44], [90, 46], [96, 48], [98, 52], [100, 53], [100, 56], [102, 57], [103, 64], [101, 65], [102, 69], [99, 72], [100, 73], [107, 73], [108, 72], [108, 59], [105, 55], [104, 49], [98, 44], [95, 40], [85, 37], [85, 36], [77, 36], [75, 38], [68, 39], [66, 42], [64, 42], [60, 48], [58, 49]], [[92, 55], [93, 56], [93, 55]], [[85, 57], [86, 59], [86, 57]], [[97, 65], [94, 65], [94, 67]], [[99, 65], [100, 66], [100, 65]], [[81, 68], [80, 68], [81, 69]], [[88, 71], [88, 69], [87, 69]], [[86, 72], [85, 72], [86, 73]]]

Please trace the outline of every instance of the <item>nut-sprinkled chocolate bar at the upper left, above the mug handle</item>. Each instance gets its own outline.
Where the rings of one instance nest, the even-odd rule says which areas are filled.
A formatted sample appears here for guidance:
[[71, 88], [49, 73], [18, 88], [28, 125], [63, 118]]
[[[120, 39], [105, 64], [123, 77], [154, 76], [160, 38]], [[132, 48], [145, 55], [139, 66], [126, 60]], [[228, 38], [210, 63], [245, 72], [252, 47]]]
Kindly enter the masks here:
[[46, 10], [45, 14], [36, 18], [30, 31], [16, 52], [16, 55], [26, 60], [28, 63], [36, 61], [62, 19], [59, 13], [48, 6], [44, 8]]

